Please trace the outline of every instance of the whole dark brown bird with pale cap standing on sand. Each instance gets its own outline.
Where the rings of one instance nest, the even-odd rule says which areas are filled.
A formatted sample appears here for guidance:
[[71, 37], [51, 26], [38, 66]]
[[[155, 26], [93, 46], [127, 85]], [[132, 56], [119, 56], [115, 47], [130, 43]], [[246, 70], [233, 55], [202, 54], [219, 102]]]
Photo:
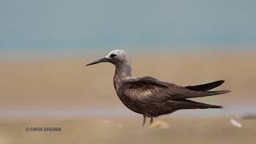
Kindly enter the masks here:
[[[178, 86], [152, 77], [134, 78], [131, 75], [131, 62], [125, 50], [113, 50], [104, 58], [90, 62], [86, 66], [110, 62], [115, 66], [114, 89], [121, 102], [135, 113], [142, 114], [142, 126], [146, 118], [171, 114], [184, 109], [222, 108], [222, 106], [195, 102], [188, 98], [199, 98], [229, 93], [230, 90], [211, 90], [222, 85], [224, 80], [197, 86]], [[211, 91], [210, 91], [211, 90]]]

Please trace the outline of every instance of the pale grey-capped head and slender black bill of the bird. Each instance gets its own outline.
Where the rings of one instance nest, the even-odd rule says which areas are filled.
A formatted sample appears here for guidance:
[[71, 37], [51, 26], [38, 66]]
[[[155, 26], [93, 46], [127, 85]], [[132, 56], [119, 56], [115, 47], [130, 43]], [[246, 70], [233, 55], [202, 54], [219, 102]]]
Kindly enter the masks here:
[[118, 63], [129, 62], [129, 58], [127, 57], [125, 50], [113, 50], [110, 54], [107, 54], [106, 57], [100, 58], [94, 62], [90, 62], [86, 66], [94, 65], [100, 62], [110, 62], [114, 65], [118, 65]]

